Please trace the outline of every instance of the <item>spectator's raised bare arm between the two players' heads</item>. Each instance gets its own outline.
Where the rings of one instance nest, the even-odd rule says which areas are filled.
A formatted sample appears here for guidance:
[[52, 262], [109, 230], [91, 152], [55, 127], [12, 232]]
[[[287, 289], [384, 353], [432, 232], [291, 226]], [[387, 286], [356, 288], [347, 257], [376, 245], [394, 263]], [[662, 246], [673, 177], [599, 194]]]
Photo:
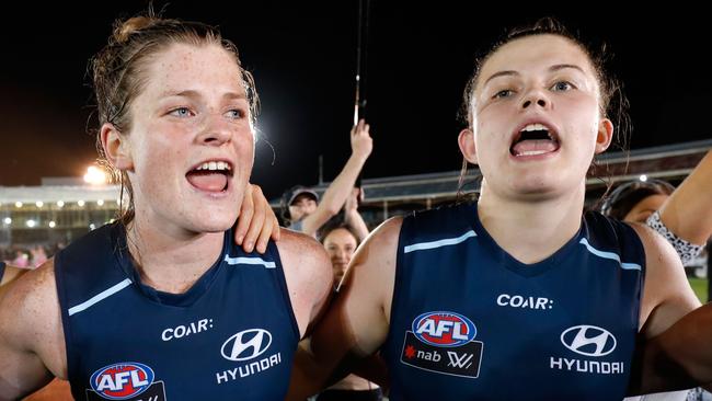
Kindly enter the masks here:
[[319, 228], [341, 210], [346, 198], [352, 192], [356, 179], [360, 173], [366, 159], [374, 149], [374, 141], [369, 134], [370, 127], [363, 119], [351, 130], [352, 156], [346, 161], [341, 173], [329, 185], [321, 198], [317, 210], [303, 219], [302, 232], [314, 236]]

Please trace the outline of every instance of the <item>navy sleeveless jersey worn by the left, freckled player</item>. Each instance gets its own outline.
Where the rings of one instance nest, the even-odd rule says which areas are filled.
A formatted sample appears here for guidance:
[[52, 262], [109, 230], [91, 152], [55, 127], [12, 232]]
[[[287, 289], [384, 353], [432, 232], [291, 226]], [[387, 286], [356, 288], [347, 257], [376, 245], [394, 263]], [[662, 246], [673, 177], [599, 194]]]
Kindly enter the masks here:
[[74, 399], [284, 399], [299, 329], [277, 248], [245, 254], [231, 231], [223, 242], [181, 295], [140, 283], [116, 224], [56, 255]]

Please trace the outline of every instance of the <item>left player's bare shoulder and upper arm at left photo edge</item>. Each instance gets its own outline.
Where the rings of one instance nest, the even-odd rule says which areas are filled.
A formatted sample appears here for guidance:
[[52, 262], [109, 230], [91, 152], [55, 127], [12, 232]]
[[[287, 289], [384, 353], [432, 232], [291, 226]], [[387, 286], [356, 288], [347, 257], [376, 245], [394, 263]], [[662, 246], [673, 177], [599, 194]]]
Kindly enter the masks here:
[[54, 263], [21, 277], [0, 300], [0, 400], [67, 377]]

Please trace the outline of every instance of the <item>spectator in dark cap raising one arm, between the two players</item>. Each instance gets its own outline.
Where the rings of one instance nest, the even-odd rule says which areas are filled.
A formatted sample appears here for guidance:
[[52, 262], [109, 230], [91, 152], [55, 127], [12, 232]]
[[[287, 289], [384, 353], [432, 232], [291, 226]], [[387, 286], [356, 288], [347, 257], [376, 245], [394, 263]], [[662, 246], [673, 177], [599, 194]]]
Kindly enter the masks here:
[[287, 227], [317, 237], [319, 229], [344, 207], [374, 149], [369, 129], [369, 125], [363, 119], [352, 128], [352, 156], [324, 191], [321, 202], [315, 192], [303, 186], [295, 186], [285, 192], [282, 198], [282, 214]]

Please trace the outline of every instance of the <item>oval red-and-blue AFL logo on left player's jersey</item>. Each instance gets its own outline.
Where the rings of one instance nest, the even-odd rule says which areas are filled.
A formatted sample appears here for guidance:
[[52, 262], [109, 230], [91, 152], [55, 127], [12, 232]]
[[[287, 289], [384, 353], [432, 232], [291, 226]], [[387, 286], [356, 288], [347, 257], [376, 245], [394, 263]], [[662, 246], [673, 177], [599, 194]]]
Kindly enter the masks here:
[[153, 370], [135, 362], [105, 366], [89, 379], [92, 389], [108, 400], [126, 400], [146, 391], [153, 382]]

